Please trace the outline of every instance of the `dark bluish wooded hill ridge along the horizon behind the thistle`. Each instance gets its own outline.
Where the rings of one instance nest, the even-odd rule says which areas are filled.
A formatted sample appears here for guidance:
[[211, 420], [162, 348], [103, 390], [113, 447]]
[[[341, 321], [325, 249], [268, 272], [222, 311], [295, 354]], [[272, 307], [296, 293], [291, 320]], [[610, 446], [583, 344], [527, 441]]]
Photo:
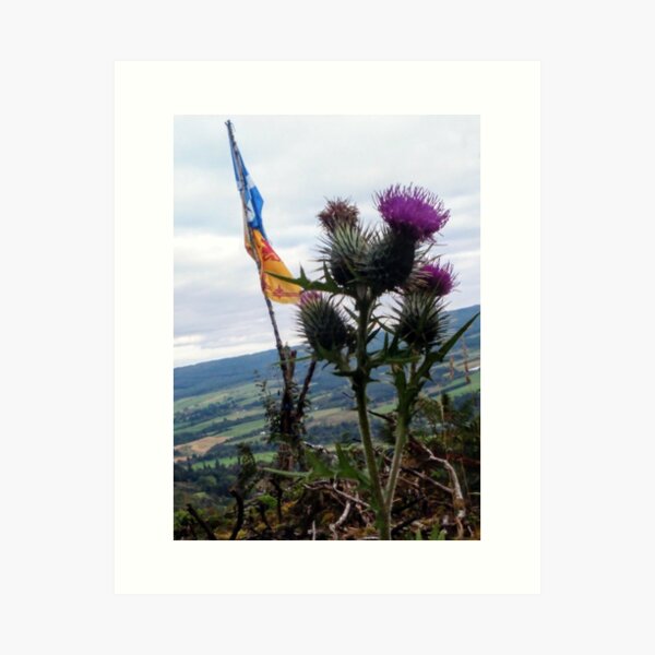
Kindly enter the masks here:
[[[450, 314], [451, 331], [457, 330], [475, 313], [480, 311], [479, 305], [456, 309]], [[479, 353], [480, 347], [480, 321], [479, 319], [467, 330], [466, 346], [472, 354]], [[297, 347], [298, 357], [307, 355], [301, 346]], [[252, 383], [255, 373], [263, 379], [271, 379], [278, 374], [278, 355], [276, 349], [263, 350], [251, 355], [228, 357], [205, 361], [192, 366], [183, 366], [174, 370], [174, 396], [176, 401], [189, 398], [202, 394], [228, 390], [242, 384]], [[299, 362], [297, 367], [297, 379], [301, 380], [306, 362]], [[334, 376], [321, 376], [321, 386], [341, 386], [343, 379]]]

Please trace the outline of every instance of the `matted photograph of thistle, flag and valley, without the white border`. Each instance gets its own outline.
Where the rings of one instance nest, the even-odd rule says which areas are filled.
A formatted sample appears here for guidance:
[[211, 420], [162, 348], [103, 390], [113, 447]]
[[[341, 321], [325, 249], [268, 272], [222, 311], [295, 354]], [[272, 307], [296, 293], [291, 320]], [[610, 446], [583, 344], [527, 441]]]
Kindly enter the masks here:
[[479, 117], [174, 144], [174, 538], [480, 539]]

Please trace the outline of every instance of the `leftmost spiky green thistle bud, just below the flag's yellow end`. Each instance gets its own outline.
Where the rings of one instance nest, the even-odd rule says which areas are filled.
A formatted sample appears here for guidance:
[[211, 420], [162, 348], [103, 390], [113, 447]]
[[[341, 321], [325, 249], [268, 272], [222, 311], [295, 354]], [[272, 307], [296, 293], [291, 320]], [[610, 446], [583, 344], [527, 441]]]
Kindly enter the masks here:
[[303, 291], [299, 301], [298, 325], [310, 347], [322, 353], [341, 350], [350, 342], [348, 324], [333, 301], [317, 291]]

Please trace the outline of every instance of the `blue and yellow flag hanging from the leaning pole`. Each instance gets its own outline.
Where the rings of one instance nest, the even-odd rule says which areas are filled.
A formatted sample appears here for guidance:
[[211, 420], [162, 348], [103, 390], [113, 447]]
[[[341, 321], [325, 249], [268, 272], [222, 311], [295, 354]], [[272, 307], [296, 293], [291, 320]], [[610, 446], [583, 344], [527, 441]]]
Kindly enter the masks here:
[[243, 205], [243, 239], [246, 241], [246, 250], [257, 263], [262, 290], [266, 298], [275, 302], [297, 302], [298, 298], [300, 298], [301, 288], [298, 285], [284, 282], [271, 275], [271, 273], [275, 273], [284, 277], [294, 277], [275, 250], [273, 250], [266, 237], [262, 223], [264, 199], [243, 164], [241, 153], [235, 141], [231, 122], [227, 121], [226, 124], [229, 133], [235, 178]]

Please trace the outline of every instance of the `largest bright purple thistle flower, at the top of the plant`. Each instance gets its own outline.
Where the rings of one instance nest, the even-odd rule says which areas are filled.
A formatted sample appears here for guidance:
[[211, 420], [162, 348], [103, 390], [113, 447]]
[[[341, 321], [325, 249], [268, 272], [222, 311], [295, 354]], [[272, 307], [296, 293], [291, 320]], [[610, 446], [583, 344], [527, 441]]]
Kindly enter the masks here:
[[431, 238], [450, 217], [443, 201], [422, 187], [394, 184], [376, 193], [373, 200], [394, 231], [405, 233], [416, 241]]

